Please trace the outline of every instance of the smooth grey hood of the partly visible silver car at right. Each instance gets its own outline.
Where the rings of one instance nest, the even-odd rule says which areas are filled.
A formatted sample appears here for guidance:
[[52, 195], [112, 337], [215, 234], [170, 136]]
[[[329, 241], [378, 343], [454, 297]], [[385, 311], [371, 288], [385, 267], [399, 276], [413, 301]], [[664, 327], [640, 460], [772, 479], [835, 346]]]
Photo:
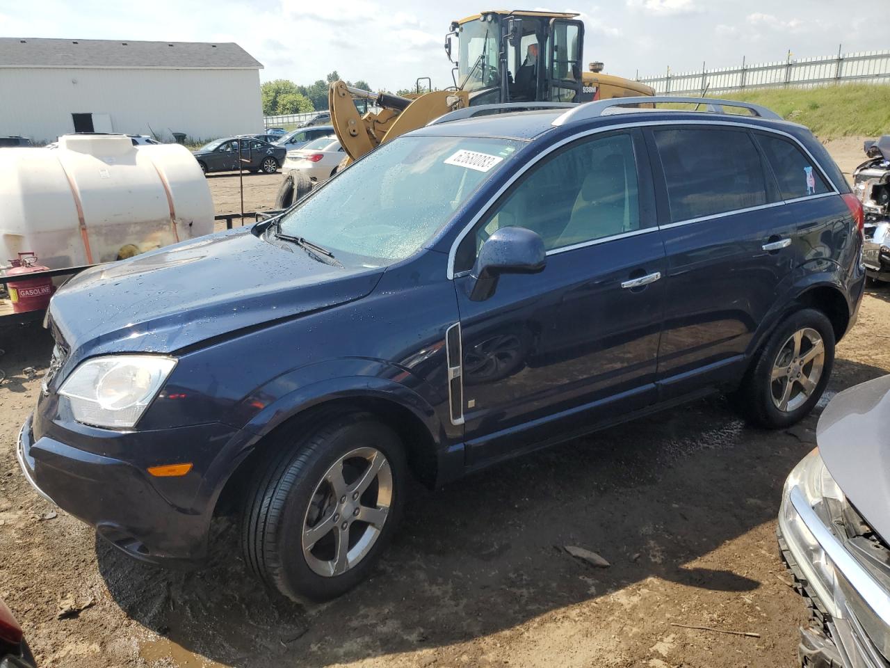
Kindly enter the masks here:
[[890, 541], [890, 376], [836, 395], [822, 411], [816, 443], [847, 499]]

